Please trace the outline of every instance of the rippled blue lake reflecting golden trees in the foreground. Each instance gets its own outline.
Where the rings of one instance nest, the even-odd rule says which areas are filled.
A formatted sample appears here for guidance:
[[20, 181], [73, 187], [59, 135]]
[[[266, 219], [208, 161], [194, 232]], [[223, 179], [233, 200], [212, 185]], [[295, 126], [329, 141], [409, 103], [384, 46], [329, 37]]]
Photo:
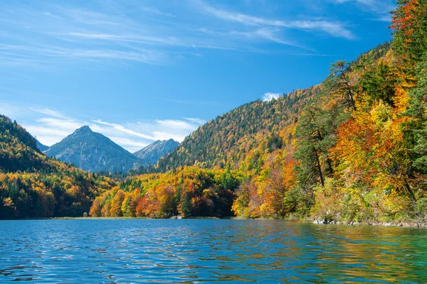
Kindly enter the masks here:
[[217, 219], [0, 229], [1, 283], [427, 283], [426, 229]]

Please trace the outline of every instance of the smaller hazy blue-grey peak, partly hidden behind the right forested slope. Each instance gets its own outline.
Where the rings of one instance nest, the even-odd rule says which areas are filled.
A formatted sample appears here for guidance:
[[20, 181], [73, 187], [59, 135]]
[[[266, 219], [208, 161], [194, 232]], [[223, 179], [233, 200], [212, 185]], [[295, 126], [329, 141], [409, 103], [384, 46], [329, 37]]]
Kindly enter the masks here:
[[160, 158], [174, 151], [178, 146], [179, 142], [174, 141], [174, 139], [158, 140], [135, 152], [134, 155], [144, 160], [144, 166], [155, 165]]

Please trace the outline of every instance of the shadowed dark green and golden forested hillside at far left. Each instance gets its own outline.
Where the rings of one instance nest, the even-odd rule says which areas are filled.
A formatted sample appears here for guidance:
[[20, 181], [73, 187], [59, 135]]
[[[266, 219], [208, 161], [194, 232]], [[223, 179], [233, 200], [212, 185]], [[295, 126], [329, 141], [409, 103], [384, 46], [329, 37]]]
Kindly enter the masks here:
[[0, 116], [0, 219], [81, 217], [113, 185], [46, 157], [33, 136]]

